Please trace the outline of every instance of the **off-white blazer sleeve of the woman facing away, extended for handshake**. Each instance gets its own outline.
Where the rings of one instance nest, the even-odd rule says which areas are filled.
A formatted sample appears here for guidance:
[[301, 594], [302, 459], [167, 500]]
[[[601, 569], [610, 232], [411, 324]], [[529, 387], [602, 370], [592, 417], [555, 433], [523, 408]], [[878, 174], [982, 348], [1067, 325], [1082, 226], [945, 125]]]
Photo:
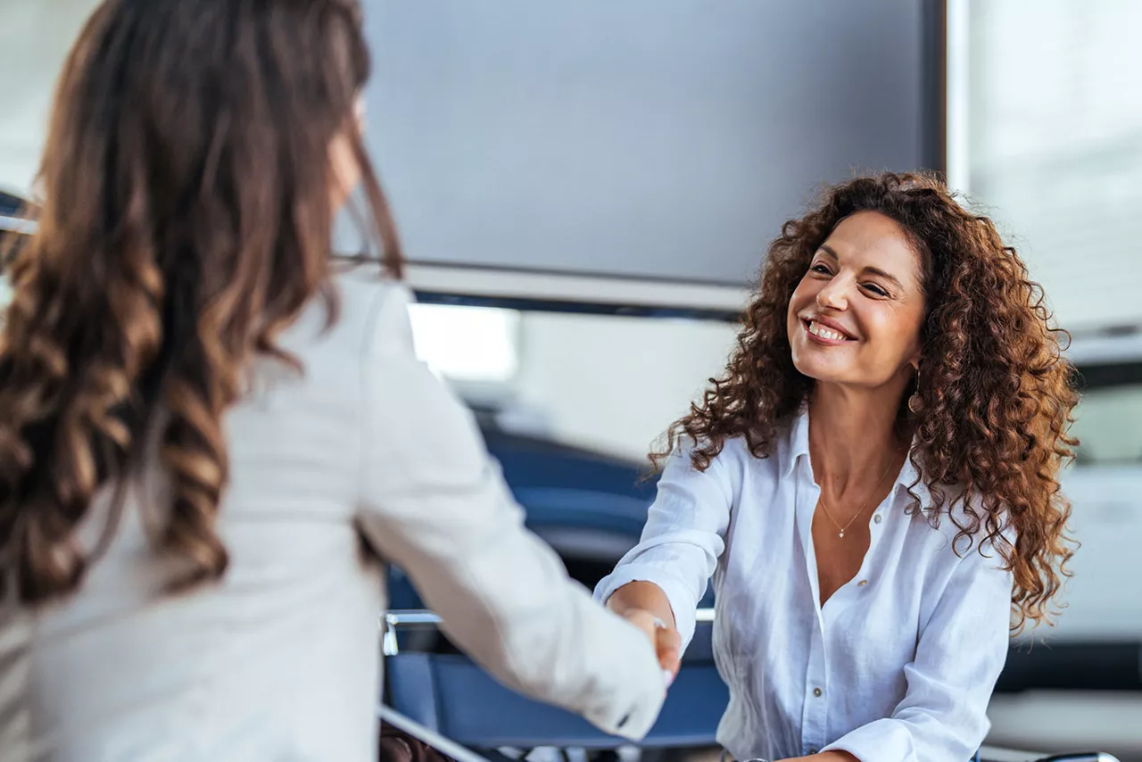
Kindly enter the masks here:
[[362, 534], [497, 679], [643, 737], [665, 696], [651, 644], [524, 528], [472, 414], [417, 361], [404, 305], [392, 308], [362, 377]]

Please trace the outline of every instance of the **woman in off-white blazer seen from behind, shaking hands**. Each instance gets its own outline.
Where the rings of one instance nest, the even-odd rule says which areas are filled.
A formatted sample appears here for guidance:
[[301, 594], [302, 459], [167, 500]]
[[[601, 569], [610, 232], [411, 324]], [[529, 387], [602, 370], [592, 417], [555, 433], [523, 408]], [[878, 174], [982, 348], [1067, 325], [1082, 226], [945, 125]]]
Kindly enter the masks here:
[[[349, 0], [108, 0], [75, 43], [0, 332], [3, 760], [373, 759], [381, 558], [509, 685], [653, 722], [650, 617], [416, 361], [368, 72]], [[387, 276], [330, 259], [359, 181]]]

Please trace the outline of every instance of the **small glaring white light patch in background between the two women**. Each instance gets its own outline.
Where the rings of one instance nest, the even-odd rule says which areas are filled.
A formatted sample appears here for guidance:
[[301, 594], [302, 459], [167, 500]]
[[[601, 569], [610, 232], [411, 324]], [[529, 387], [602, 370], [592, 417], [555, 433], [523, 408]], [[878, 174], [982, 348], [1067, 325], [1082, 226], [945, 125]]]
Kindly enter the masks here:
[[518, 312], [413, 304], [409, 316], [417, 356], [435, 372], [464, 382], [506, 382], [515, 375]]

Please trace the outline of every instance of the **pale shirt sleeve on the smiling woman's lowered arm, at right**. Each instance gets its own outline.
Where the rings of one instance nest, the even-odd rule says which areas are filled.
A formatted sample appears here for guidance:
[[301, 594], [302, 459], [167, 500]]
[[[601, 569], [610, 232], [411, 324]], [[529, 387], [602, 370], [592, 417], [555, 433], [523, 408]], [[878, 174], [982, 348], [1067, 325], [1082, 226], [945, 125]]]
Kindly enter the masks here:
[[959, 561], [904, 666], [908, 689], [892, 716], [822, 751], [862, 762], [963, 762], [975, 753], [1010, 642], [1012, 573], [1000, 564], [976, 548]]

